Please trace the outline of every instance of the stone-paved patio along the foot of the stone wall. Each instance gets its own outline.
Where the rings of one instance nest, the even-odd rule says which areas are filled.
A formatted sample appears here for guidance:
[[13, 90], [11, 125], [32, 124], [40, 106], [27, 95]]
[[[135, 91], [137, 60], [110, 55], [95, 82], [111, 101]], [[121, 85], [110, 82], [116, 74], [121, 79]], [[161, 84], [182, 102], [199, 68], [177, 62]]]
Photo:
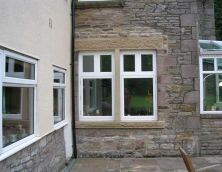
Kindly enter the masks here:
[[[195, 169], [222, 164], [222, 157], [192, 158]], [[70, 172], [187, 172], [182, 158], [78, 158]], [[222, 172], [222, 166], [210, 172]]]

